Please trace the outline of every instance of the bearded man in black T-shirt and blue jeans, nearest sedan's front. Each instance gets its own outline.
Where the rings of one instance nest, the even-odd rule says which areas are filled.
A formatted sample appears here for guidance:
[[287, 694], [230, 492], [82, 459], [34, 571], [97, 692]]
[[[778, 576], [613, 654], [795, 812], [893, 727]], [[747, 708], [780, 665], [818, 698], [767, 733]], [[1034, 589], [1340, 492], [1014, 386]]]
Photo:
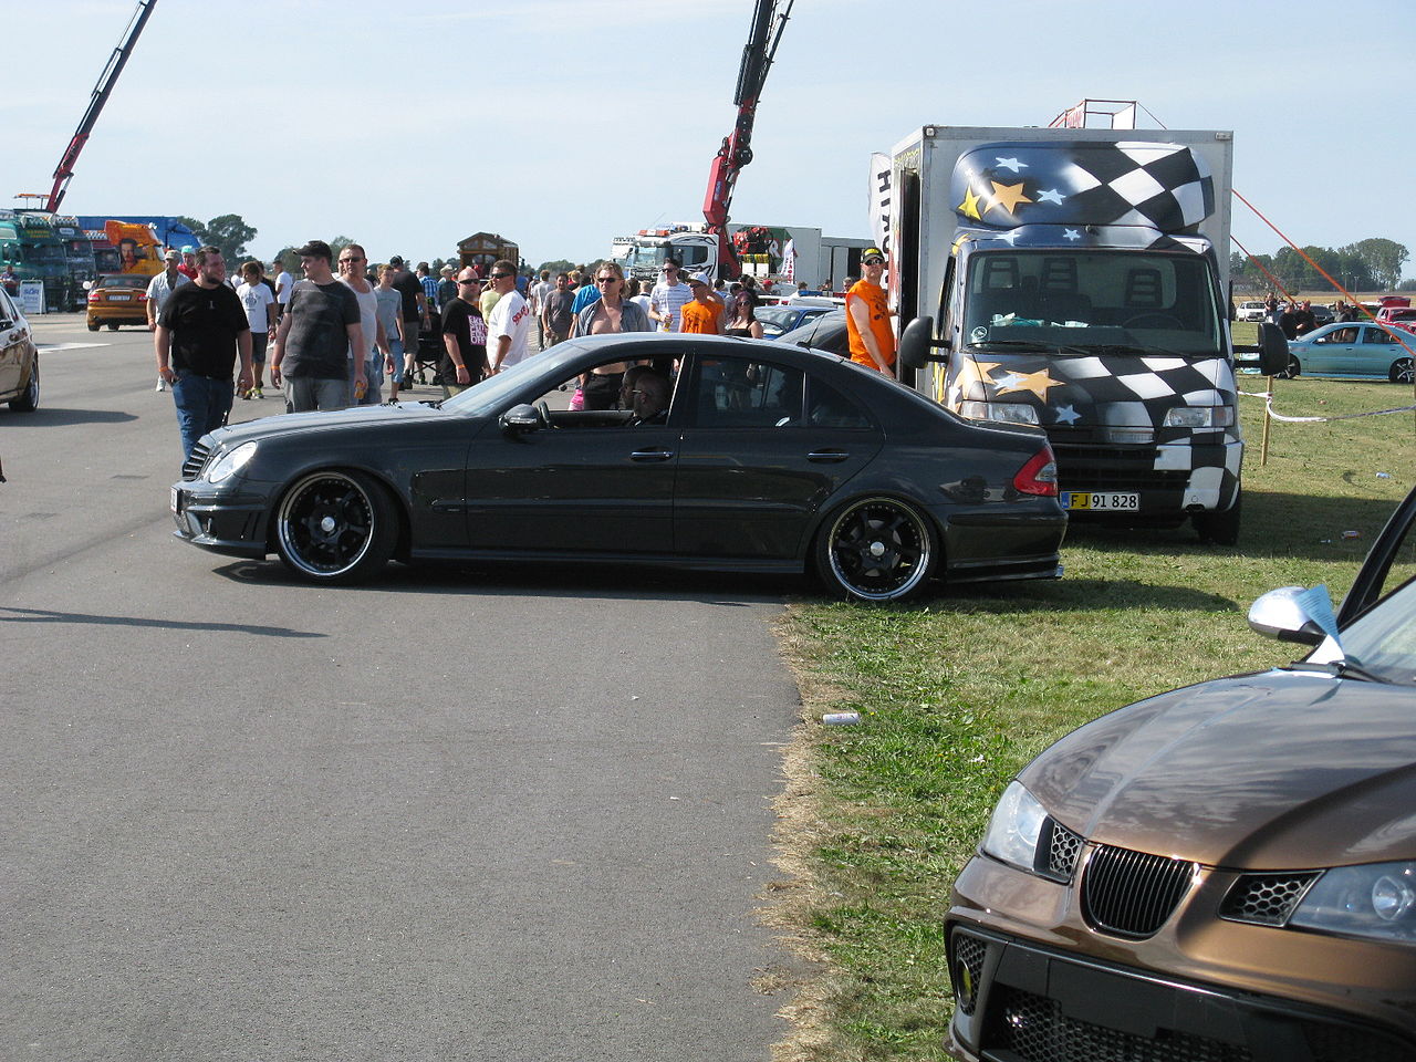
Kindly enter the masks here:
[[251, 387], [251, 324], [241, 299], [227, 286], [221, 251], [197, 251], [195, 269], [197, 279], [177, 287], [163, 304], [153, 334], [157, 375], [171, 385], [177, 406], [183, 460], [231, 412], [231, 371], [238, 354], [236, 387]]

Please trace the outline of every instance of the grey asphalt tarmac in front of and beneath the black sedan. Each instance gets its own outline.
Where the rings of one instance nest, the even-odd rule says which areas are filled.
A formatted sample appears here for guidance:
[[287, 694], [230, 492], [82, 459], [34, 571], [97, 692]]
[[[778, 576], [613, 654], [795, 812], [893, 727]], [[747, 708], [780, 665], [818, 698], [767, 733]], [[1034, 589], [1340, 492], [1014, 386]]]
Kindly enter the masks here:
[[37, 334], [40, 411], [0, 406], [0, 1058], [767, 1058], [782, 583], [201, 552], [149, 334]]

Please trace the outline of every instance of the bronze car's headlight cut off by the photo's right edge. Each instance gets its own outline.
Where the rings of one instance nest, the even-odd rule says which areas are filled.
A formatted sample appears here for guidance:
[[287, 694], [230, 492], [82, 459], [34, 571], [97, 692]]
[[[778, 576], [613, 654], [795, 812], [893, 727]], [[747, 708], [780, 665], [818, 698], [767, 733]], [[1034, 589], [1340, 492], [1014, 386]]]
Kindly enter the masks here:
[[1289, 925], [1378, 940], [1416, 940], [1416, 862], [1327, 869]]

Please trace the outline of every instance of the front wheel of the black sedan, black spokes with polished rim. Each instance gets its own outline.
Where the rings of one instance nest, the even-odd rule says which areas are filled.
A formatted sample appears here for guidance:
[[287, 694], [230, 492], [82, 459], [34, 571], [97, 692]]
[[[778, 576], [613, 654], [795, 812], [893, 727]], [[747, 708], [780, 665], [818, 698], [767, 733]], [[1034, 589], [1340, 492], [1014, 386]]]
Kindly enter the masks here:
[[358, 472], [316, 472], [282, 497], [275, 547], [303, 579], [350, 583], [388, 564], [398, 542], [398, 514], [388, 493]]

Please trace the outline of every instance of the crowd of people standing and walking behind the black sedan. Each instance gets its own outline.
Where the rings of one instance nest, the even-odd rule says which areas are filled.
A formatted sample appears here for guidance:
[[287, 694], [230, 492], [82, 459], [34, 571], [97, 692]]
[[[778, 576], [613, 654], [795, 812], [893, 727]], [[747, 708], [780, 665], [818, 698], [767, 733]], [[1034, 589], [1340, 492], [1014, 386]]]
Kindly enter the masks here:
[[[554, 278], [542, 269], [532, 278], [501, 259], [487, 268], [442, 266], [435, 276], [426, 262], [409, 269], [396, 255], [371, 272], [358, 244], [336, 256], [329, 244], [312, 239], [295, 253], [299, 280], [280, 262], [268, 272], [248, 261], [236, 282], [228, 280], [215, 246], [169, 249], [166, 269], [149, 283], [157, 391], [171, 388], [184, 460], [202, 435], [225, 423], [238, 395], [265, 398], [268, 367], [286, 412], [297, 413], [381, 402], [385, 384], [388, 401], [396, 401], [415, 378], [423, 379], [429, 362], [433, 384], [450, 398], [576, 336], [763, 336], [756, 309], [765, 293], [753, 278], [715, 282], [708, 273], [684, 273], [673, 258], [649, 285], [627, 279], [616, 262]], [[865, 276], [845, 299], [852, 357], [893, 374], [891, 312], [879, 286], [884, 256], [871, 249], [862, 266]], [[572, 408], [633, 408], [634, 388], [626, 387], [632, 368], [612, 364], [585, 374]], [[646, 368], [664, 381], [671, 370]], [[656, 378], [649, 396], [657, 395]]]

